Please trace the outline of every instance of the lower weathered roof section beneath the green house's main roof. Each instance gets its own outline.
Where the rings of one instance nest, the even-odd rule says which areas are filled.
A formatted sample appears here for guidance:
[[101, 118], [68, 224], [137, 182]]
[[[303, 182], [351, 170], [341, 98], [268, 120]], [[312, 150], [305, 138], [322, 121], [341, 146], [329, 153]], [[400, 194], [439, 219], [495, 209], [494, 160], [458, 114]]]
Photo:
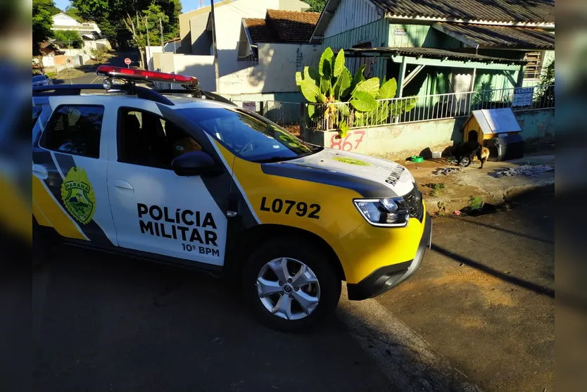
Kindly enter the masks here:
[[457, 39], [482, 47], [508, 49], [554, 49], [555, 34], [542, 29], [512, 26], [437, 23], [434, 27]]

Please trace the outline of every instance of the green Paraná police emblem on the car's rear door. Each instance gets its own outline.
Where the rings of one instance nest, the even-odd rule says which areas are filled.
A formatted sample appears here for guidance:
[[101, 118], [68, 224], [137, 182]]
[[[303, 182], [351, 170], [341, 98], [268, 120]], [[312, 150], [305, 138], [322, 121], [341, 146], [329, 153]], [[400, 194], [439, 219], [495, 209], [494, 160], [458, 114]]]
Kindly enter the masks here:
[[86, 225], [94, 216], [96, 196], [82, 167], [72, 167], [63, 179], [61, 199], [70, 215], [80, 223]]

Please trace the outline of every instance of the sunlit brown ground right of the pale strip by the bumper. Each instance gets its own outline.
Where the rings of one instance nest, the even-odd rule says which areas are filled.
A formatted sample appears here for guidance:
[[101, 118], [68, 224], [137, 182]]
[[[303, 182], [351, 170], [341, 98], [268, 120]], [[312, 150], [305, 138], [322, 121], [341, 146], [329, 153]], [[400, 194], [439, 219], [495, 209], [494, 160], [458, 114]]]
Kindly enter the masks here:
[[554, 187], [435, 217], [420, 270], [377, 301], [484, 391], [553, 391]]

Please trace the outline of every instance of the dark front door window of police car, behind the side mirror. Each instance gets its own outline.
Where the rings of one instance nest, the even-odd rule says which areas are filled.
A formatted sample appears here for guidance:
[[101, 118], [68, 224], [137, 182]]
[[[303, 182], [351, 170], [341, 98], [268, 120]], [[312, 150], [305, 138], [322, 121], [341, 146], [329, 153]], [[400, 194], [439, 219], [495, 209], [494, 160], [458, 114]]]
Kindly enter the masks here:
[[118, 161], [171, 169], [177, 156], [201, 146], [173, 122], [143, 110], [118, 112]]

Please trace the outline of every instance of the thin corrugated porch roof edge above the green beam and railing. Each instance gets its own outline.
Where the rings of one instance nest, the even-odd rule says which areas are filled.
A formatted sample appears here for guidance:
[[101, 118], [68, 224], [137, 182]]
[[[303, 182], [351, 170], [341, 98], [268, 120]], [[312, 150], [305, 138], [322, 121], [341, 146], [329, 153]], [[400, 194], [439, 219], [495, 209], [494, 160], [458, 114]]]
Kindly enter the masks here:
[[387, 54], [391, 56], [408, 56], [422, 58], [438, 58], [455, 61], [479, 61], [479, 63], [498, 63], [498, 64], [526, 64], [525, 60], [514, 60], [512, 58], [500, 58], [491, 56], [482, 56], [475, 53], [464, 53], [456, 51], [447, 51], [445, 49], [435, 48], [372, 48], [372, 49], [344, 49], [345, 55], [353, 56], [373, 56]]

